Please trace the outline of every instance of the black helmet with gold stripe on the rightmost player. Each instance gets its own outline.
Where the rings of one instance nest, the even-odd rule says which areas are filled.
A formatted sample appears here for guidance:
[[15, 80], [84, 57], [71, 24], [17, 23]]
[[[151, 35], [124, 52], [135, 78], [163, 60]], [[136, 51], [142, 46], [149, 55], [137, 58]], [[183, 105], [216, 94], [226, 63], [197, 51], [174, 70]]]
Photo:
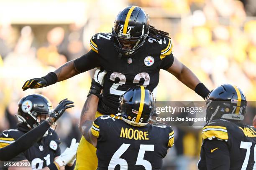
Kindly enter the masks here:
[[210, 92], [206, 99], [207, 123], [216, 119], [243, 120], [246, 113], [246, 97], [240, 88], [223, 84]]

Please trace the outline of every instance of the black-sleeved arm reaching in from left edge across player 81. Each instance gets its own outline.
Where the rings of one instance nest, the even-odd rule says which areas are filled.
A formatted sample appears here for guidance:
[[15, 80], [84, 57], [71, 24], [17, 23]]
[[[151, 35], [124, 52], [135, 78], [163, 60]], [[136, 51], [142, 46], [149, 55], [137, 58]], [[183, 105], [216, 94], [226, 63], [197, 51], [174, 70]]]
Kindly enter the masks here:
[[[28, 133], [22, 135], [18, 140], [13, 141], [3, 141], [0, 144], [0, 160], [6, 161], [17, 156], [19, 153], [25, 152], [30, 148], [34, 143], [36, 143], [46, 131], [51, 127], [51, 125], [59, 119], [63, 112], [56, 112], [56, 114], [50, 114], [44, 122], [38, 125], [36, 128], [33, 128]], [[5, 139], [5, 138], [4, 138]], [[29, 140], [26, 140], [29, 139]], [[7, 143], [6, 143], [7, 142]]]

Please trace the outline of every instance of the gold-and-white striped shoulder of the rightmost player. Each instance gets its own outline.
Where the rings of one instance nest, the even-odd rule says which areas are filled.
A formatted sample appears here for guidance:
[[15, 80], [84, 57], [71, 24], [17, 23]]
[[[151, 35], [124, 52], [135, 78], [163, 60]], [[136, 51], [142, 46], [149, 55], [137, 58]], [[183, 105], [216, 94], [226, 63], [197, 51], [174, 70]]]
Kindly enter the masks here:
[[202, 130], [203, 140], [208, 139], [218, 139], [228, 141], [228, 130], [226, 125], [229, 121], [224, 122], [224, 120], [215, 120], [208, 123]]

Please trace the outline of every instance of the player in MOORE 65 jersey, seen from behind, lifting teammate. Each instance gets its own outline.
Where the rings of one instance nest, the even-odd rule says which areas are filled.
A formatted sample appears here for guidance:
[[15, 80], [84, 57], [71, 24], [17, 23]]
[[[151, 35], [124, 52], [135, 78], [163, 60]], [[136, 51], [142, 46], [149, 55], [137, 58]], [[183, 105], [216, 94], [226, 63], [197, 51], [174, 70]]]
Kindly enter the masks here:
[[[87, 100], [88, 105], [97, 105], [95, 95]], [[174, 131], [165, 124], [148, 123], [154, 105], [150, 90], [134, 86], [120, 97], [120, 113], [115, 118], [103, 115], [94, 121], [85, 121], [82, 132], [85, 139], [97, 147], [97, 170], [161, 169], [162, 159], [173, 146]]]

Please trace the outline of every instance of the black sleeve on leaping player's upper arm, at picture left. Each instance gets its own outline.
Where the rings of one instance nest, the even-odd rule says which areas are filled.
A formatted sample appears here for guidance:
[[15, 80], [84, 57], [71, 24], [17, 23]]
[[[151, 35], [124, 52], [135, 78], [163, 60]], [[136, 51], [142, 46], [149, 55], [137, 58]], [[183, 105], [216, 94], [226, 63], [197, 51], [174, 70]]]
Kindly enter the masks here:
[[86, 72], [95, 67], [100, 67], [100, 56], [97, 52], [90, 50], [87, 54], [74, 60], [74, 68], [77, 72]]

